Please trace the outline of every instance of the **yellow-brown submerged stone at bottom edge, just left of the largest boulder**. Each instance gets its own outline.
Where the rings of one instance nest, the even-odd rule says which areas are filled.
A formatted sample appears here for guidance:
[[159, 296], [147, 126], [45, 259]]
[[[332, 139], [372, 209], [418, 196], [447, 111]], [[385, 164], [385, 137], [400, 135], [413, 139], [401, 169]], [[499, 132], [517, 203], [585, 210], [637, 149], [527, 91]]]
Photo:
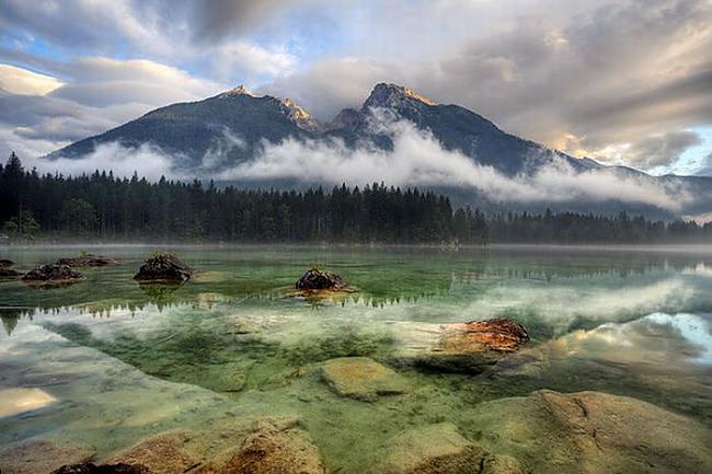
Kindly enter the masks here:
[[387, 442], [376, 474], [474, 474], [485, 452], [449, 423], [414, 428]]

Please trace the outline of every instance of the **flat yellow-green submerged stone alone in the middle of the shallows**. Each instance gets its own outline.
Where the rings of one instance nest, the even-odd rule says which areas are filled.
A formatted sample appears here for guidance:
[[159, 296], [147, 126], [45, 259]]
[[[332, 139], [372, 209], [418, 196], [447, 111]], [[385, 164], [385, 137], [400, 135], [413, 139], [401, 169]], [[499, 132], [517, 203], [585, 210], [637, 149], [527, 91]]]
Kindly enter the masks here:
[[322, 377], [341, 396], [372, 402], [379, 395], [394, 395], [410, 390], [407, 381], [368, 357], [341, 357], [322, 366]]

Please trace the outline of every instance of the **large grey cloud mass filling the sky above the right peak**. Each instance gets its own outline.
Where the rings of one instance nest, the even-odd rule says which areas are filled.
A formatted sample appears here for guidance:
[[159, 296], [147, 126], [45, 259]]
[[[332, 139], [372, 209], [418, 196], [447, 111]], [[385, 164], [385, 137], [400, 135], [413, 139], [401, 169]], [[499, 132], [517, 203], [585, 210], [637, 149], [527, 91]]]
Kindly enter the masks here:
[[[402, 82], [517, 135], [601, 160], [607, 148], [712, 123], [708, 0], [395, 2], [384, 10], [374, 13], [382, 20], [368, 18], [377, 26], [368, 30], [372, 39], [359, 37], [360, 50], [264, 89], [325, 118], [358, 105], [376, 82]], [[409, 18], [422, 26], [409, 27]], [[438, 34], [443, 25], [455, 33]]]

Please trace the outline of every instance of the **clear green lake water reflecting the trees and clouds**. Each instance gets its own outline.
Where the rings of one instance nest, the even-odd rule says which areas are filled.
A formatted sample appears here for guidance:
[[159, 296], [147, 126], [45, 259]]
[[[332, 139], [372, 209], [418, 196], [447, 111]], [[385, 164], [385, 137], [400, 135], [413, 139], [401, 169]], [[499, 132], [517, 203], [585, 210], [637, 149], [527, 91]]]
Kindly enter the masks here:
[[[3, 248], [0, 258], [28, 269], [81, 248]], [[447, 420], [474, 439], [479, 403], [543, 388], [630, 395], [712, 427], [710, 248], [179, 247], [200, 270], [181, 287], [131, 279], [151, 247], [87, 250], [124, 263], [85, 269], [85, 281], [65, 288], [0, 282], [0, 396], [36, 388], [54, 398], [0, 418], [0, 446], [43, 435], [105, 455], [226, 414], [288, 415], [331, 472], [356, 473], [404, 428]], [[296, 296], [311, 264], [357, 291]], [[395, 363], [438, 324], [494, 316], [532, 336], [496, 371]], [[319, 365], [342, 356], [390, 365], [414, 390], [374, 403], [340, 397]]]

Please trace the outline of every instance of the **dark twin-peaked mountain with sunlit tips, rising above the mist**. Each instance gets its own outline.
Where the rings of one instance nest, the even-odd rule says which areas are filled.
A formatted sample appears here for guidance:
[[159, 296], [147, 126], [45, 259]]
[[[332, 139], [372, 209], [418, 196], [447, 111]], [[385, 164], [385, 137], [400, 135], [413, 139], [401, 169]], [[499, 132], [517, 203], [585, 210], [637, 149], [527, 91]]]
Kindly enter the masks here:
[[326, 124], [319, 123], [289, 99], [255, 96], [238, 86], [204, 101], [157, 108], [136, 120], [55, 151], [49, 158], [79, 158], [107, 142], [118, 141], [126, 147], [150, 142], [180, 157], [181, 167], [190, 169], [225, 143], [226, 136], [237, 139], [229, 150], [221, 148], [230, 163], [253, 158], [264, 140], [279, 142], [287, 137], [338, 137], [351, 146], [368, 139], [388, 149], [392, 146], [390, 137], [371, 129], [375, 108], [389, 111], [418, 128], [429, 129], [446, 149], [460, 150], [507, 175], [532, 171], [553, 157], [565, 160], [576, 170], [599, 166], [594, 161], [575, 159], [506, 134], [464, 107], [436, 104], [409, 88], [386, 83], [375, 86], [360, 109], [346, 108]]

